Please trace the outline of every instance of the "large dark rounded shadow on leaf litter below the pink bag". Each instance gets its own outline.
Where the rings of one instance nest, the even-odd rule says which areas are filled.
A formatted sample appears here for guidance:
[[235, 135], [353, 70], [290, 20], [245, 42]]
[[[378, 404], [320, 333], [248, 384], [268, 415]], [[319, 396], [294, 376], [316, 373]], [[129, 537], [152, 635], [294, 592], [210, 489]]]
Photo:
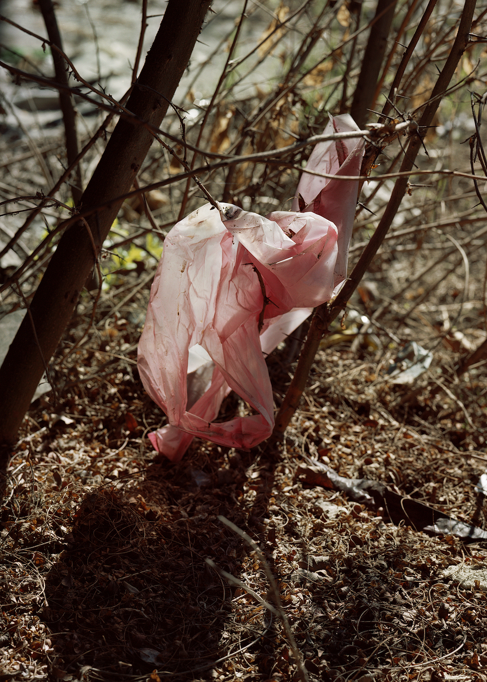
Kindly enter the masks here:
[[137, 489], [101, 488], [76, 511], [69, 548], [46, 581], [43, 614], [61, 633], [54, 646], [67, 672], [184, 676], [225, 657], [232, 595], [205, 557], [238, 572], [242, 541], [213, 514], [208, 521], [207, 495], [190, 480], [178, 500], [161, 490], [159, 508]]

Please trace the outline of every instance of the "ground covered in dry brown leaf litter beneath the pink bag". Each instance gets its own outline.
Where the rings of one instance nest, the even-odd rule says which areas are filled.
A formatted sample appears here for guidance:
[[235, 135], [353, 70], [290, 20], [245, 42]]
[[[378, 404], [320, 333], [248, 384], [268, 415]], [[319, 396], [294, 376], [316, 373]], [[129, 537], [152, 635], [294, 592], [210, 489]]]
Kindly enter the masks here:
[[[395, 351], [343, 335], [320, 351], [285, 442], [196, 439], [171, 464], [146, 438], [163, 417], [138, 379], [133, 289], [111, 315], [101, 299], [103, 324], [60, 353], [59, 400], [33, 406], [14, 450], [0, 679], [486, 679], [486, 543], [393, 524], [312, 475], [321, 462], [485, 527], [480, 372], [455, 396], [435, 393], [435, 365], [414, 388], [392, 385]], [[277, 400], [289, 345], [269, 359]], [[223, 411], [236, 407], [230, 396]]]

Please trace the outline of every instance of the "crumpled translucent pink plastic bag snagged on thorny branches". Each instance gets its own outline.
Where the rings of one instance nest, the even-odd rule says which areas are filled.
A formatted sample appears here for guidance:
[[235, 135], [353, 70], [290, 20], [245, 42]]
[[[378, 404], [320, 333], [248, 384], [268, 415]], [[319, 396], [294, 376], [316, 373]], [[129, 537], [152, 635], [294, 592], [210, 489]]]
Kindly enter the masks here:
[[[357, 130], [349, 116], [336, 117], [326, 130], [351, 125]], [[362, 140], [320, 143], [307, 167], [359, 175], [363, 147]], [[357, 191], [358, 181], [304, 173], [298, 192], [311, 210], [264, 218], [206, 204], [168, 233], [138, 348], [144, 388], [169, 421], [148, 436], [157, 451], [178, 461], [193, 436], [243, 449], [270, 436], [264, 356], [345, 279]], [[255, 414], [215, 423], [232, 390]]]

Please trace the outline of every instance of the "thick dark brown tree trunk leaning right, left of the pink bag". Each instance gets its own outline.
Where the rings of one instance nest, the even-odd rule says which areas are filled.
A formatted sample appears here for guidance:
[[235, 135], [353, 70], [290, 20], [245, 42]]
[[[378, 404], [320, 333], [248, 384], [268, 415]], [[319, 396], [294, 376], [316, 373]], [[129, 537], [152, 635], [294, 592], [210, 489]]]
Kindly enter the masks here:
[[[157, 128], [161, 125], [209, 5], [210, 0], [169, 0], [127, 102], [127, 109], [142, 121]], [[144, 125], [119, 119], [82, 196], [84, 210], [103, 208], [86, 222], [80, 220], [66, 229], [0, 368], [0, 445], [16, 440], [37, 384], [119, 211], [122, 202], [116, 197], [129, 192], [152, 141]]]

